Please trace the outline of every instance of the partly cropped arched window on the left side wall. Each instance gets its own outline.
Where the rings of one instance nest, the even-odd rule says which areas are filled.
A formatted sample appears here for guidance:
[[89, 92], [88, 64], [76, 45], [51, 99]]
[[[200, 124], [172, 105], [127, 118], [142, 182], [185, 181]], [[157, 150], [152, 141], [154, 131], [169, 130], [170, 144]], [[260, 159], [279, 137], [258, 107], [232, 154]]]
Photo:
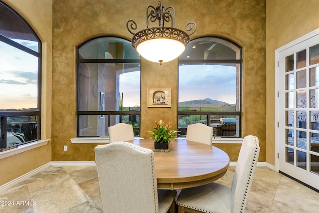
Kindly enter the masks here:
[[0, 1], [0, 150], [40, 138], [41, 41]]

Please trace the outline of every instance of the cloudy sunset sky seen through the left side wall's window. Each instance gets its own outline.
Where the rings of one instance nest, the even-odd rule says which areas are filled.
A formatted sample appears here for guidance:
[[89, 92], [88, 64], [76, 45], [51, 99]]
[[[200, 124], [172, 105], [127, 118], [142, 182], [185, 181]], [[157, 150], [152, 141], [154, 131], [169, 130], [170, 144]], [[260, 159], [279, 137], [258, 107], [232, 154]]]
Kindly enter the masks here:
[[0, 109], [36, 108], [37, 57], [1, 41], [0, 48]]

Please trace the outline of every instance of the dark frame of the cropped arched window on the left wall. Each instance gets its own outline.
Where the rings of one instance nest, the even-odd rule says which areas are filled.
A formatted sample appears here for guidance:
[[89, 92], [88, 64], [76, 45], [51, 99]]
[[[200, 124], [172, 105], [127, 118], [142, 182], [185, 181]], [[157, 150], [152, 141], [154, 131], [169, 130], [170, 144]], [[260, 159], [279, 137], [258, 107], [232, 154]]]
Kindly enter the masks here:
[[[37, 39], [38, 42], [38, 52], [29, 49], [26, 46], [23, 46], [3, 35], [0, 34], [0, 41], [13, 46], [21, 51], [24, 51], [28, 54], [31, 54], [38, 58], [38, 70], [37, 70], [37, 110], [33, 111], [24, 111], [24, 110], [15, 110], [15, 111], [1, 111], [0, 110], [0, 122], [1, 122], [1, 130], [0, 130], [0, 152], [6, 151], [8, 149], [17, 148], [18, 146], [25, 145], [27, 143], [31, 143], [34, 141], [38, 141], [41, 139], [41, 94], [42, 94], [42, 41], [40, 40], [39, 36], [36, 34], [36, 32], [33, 30], [33, 28], [30, 26], [30, 24], [19, 14], [17, 13], [13, 8], [8, 6], [6, 3], [0, 1], [0, 3], [5, 6], [8, 10], [11, 10], [18, 18], [20, 18], [21, 21], [24, 22], [25, 25], [27, 25], [31, 32], [33, 32], [33, 36]], [[18, 145], [12, 145], [12, 146], [6, 146], [7, 138], [6, 138], [6, 132], [7, 132], [7, 117], [22, 117], [22, 116], [37, 116], [37, 139], [25, 141], [22, 144]]]

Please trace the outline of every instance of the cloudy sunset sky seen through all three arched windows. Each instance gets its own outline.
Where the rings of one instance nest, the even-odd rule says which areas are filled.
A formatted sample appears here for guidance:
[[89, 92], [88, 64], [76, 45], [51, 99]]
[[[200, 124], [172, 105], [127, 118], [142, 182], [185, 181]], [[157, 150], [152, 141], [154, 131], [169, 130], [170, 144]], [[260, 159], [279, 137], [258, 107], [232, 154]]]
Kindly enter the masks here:
[[[34, 42], [18, 41], [34, 49]], [[37, 57], [0, 42], [0, 109], [37, 107]], [[163, 79], [165, 76], [163, 76]], [[178, 102], [210, 98], [236, 103], [236, 67], [184, 65], [179, 67]], [[123, 106], [140, 106], [140, 72], [120, 75]]]

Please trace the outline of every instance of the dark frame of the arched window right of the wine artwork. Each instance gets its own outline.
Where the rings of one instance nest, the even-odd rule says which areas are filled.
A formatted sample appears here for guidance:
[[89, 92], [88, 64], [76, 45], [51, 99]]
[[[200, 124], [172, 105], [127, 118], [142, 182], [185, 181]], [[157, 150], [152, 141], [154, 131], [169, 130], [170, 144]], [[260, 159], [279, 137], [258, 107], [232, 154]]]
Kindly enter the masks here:
[[[239, 48], [240, 59], [179, 59], [178, 58], [178, 72], [179, 66], [184, 64], [239, 64], [239, 111], [179, 111], [179, 107], [177, 107], [177, 123], [178, 123], [178, 116], [180, 115], [187, 115], [187, 116], [206, 116], [206, 125], [209, 126], [209, 118], [210, 116], [238, 116], [238, 136], [214, 136], [214, 137], [221, 137], [221, 138], [241, 138], [241, 109], [242, 109], [242, 47], [238, 44], [228, 40], [226, 38], [218, 37], [218, 36], [205, 36], [205, 37], [198, 37], [192, 39], [191, 41], [203, 38], [217, 38], [221, 40], [225, 40], [229, 43], [232, 43], [236, 47]], [[187, 48], [187, 47], [186, 47]], [[189, 47], [188, 47], [189, 48]], [[178, 82], [178, 81], [177, 81]], [[179, 90], [179, 85], [177, 85]], [[178, 99], [179, 91], [177, 92], [177, 99]], [[186, 137], [186, 135], [178, 135], [178, 137]]]

